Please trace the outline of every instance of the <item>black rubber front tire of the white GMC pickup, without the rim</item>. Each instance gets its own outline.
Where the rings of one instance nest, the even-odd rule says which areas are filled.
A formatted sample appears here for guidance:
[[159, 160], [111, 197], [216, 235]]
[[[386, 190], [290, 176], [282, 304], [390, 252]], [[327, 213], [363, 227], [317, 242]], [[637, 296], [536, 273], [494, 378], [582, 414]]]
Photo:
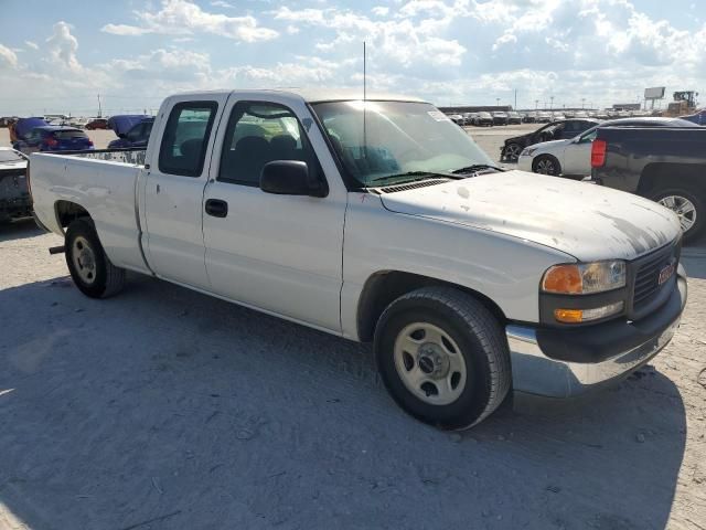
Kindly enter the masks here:
[[[453, 402], [422, 401], [396, 368], [396, 340], [416, 322], [441, 329], [460, 349], [467, 373]], [[440, 428], [475, 425], [500, 406], [511, 386], [510, 351], [501, 324], [480, 301], [450, 287], [424, 287], [393, 301], [375, 329], [375, 359], [395, 402], [417, 420]]]

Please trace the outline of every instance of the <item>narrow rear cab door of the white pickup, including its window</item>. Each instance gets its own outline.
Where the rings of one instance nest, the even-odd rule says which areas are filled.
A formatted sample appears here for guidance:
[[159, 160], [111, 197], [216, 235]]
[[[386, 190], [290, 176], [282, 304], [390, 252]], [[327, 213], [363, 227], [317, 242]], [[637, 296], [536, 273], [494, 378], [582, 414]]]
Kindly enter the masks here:
[[[227, 95], [173, 98], [159, 116], [159, 146], [150, 146], [146, 171], [147, 252], [154, 273], [208, 289], [202, 202], [218, 110]], [[140, 205], [142, 208], [142, 205]]]

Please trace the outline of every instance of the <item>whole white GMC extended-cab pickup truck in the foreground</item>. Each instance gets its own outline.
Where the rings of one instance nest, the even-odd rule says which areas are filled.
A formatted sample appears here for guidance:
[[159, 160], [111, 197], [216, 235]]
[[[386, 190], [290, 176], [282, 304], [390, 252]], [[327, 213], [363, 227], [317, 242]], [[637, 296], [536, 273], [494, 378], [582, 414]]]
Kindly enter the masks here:
[[133, 271], [373, 341], [395, 401], [443, 428], [630, 373], [686, 303], [674, 213], [496, 168], [410, 97], [180, 94], [146, 151], [32, 155], [30, 183], [87, 296]]

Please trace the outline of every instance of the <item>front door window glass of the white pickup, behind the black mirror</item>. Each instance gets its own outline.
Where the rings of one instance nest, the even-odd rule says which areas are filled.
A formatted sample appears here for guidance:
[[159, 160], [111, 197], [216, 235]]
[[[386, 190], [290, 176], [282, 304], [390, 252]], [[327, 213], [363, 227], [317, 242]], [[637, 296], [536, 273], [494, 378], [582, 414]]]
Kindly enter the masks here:
[[319, 173], [309, 139], [289, 108], [238, 102], [228, 118], [217, 179], [259, 186], [263, 167], [274, 160], [301, 160], [309, 166], [310, 174]]

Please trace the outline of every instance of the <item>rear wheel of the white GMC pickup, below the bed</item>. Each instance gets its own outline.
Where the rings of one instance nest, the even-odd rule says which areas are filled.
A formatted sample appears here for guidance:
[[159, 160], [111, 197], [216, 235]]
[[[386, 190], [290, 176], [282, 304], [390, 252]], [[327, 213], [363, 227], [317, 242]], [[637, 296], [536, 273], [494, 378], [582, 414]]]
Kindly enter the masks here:
[[[118, 294], [125, 286], [125, 269], [110, 263], [103, 250], [93, 221], [82, 218], [73, 221], [66, 230], [66, 265], [78, 290], [90, 298], [108, 298]], [[86, 278], [81, 264], [79, 252], [88, 248], [92, 253], [93, 274]]]

